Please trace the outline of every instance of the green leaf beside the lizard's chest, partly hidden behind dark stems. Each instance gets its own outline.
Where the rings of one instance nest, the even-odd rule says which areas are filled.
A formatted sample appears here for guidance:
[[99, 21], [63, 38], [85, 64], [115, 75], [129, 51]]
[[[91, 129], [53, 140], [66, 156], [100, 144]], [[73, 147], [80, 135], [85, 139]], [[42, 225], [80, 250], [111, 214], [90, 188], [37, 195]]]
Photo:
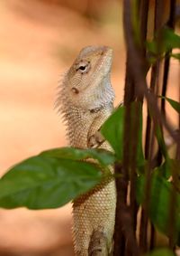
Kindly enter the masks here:
[[[103, 137], [111, 144], [115, 155], [119, 160], [122, 160], [123, 149], [123, 132], [124, 132], [124, 113], [125, 106], [121, 106], [116, 109], [109, 119], [105, 121], [101, 132]], [[142, 108], [139, 102], [133, 102], [130, 106], [130, 115], [132, 123], [135, 121], [135, 117], [139, 115], [139, 133], [138, 133], [138, 145], [137, 145], [137, 163], [138, 166], [144, 163], [144, 156], [142, 150]], [[133, 135], [133, 130], [131, 131]]]

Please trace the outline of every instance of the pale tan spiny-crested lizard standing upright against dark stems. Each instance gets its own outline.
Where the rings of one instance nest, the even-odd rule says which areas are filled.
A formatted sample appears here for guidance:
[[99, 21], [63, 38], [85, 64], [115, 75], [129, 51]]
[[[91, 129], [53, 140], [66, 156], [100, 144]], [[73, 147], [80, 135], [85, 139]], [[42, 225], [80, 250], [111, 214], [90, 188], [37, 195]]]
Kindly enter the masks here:
[[[87, 46], [65, 73], [57, 107], [66, 122], [71, 147], [112, 150], [99, 132], [113, 110], [111, 68], [111, 48]], [[74, 200], [72, 229], [76, 256], [111, 255], [115, 206], [112, 179]]]

